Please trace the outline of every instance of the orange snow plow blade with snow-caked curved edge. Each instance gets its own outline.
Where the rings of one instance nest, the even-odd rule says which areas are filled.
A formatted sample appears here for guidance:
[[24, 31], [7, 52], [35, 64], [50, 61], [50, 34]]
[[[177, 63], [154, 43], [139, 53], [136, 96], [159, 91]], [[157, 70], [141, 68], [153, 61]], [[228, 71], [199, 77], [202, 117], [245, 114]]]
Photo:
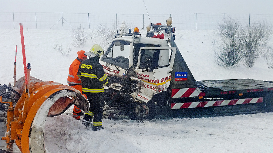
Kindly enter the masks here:
[[[24, 152], [46, 152], [44, 145], [44, 125], [46, 117], [58, 116], [65, 112], [72, 104], [87, 112], [89, 103], [86, 98], [71, 86], [52, 81], [41, 81], [30, 77], [30, 98], [24, 106], [25, 93], [24, 77], [15, 83], [15, 89], [21, 97], [14, 108], [11, 121], [10, 138], [6, 135], [7, 147], [12, 150], [12, 140]], [[17, 87], [17, 88], [16, 88]], [[11, 116], [8, 116], [8, 118]], [[8, 133], [7, 123], [7, 133]]]

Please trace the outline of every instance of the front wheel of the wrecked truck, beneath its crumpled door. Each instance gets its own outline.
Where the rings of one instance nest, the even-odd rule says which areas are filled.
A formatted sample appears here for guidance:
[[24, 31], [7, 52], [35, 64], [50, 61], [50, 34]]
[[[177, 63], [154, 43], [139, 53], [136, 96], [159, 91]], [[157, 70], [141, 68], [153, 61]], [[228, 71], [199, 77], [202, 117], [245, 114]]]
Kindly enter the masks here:
[[134, 102], [129, 108], [129, 118], [132, 120], [138, 119], [153, 119], [157, 114], [156, 106], [153, 100], [148, 103]]

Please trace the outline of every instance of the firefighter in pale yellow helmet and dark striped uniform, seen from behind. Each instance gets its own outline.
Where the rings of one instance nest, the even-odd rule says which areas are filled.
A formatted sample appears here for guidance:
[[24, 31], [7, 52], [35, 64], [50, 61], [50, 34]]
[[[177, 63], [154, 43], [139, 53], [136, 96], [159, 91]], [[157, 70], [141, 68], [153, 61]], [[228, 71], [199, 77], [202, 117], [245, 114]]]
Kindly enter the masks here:
[[89, 52], [85, 53], [89, 59], [79, 65], [78, 77], [82, 79], [82, 91], [86, 94], [90, 103], [90, 110], [83, 117], [83, 125], [89, 127], [93, 119], [93, 130], [103, 129], [104, 89], [108, 85], [108, 79], [103, 66], [99, 63], [99, 57], [103, 55], [103, 49], [94, 44]]

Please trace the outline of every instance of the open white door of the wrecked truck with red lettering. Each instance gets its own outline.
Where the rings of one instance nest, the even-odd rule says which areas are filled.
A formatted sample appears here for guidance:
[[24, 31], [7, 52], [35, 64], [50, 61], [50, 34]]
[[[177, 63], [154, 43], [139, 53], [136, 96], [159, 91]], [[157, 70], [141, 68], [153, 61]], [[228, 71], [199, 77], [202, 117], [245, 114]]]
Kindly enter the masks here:
[[[144, 87], [136, 96], [146, 102], [154, 94], [160, 93], [170, 86], [171, 72], [174, 65], [176, 48], [174, 47], [141, 47], [136, 65], [137, 78]], [[143, 97], [147, 98], [143, 100]], [[149, 98], [148, 98], [149, 97]]]

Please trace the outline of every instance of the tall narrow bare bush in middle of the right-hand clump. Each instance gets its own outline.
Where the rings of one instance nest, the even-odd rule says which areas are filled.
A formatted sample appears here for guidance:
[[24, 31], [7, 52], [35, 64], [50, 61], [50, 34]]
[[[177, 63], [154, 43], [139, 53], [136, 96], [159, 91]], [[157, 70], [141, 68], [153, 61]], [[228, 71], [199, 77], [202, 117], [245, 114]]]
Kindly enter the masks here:
[[263, 51], [258, 46], [258, 31], [255, 26], [247, 26], [240, 31], [240, 43], [243, 47], [242, 54], [245, 66], [251, 68], [258, 57], [261, 57]]

